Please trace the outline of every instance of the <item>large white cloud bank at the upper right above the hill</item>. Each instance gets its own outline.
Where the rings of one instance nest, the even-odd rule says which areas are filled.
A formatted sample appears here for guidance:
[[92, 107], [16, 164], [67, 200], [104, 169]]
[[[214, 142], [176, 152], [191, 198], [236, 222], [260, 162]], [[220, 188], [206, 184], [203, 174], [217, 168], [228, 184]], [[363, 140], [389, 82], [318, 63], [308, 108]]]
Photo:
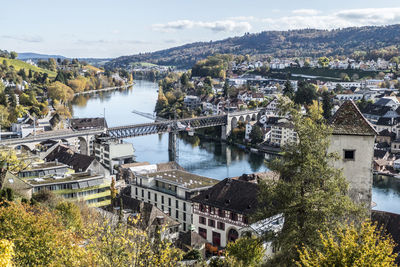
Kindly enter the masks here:
[[[296, 10], [295, 10], [296, 11]], [[352, 26], [388, 25], [400, 23], [400, 8], [365, 8], [348, 9], [332, 13], [315, 13], [309, 10], [293, 11], [293, 15], [279, 18], [266, 18], [262, 22], [267, 30], [287, 29], [334, 29]]]

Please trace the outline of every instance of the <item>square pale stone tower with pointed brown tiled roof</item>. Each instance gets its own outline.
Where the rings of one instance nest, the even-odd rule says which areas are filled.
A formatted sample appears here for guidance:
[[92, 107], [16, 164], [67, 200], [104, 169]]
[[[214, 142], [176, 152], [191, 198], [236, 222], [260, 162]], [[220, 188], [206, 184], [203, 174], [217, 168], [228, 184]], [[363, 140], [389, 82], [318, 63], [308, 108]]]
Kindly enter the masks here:
[[339, 155], [339, 160], [333, 165], [343, 169], [343, 174], [349, 182], [350, 197], [370, 208], [372, 159], [377, 132], [353, 101], [344, 102], [330, 123], [333, 133], [329, 152]]

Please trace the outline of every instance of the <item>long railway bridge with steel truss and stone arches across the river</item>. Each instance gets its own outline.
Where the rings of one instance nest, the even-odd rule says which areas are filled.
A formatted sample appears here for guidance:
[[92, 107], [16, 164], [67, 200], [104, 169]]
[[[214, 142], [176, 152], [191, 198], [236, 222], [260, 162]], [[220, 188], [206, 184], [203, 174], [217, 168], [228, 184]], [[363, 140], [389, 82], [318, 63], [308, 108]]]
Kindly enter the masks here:
[[[137, 111], [134, 113], [138, 113]], [[176, 134], [180, 131], [194, 131], [196, 129], [222, 126], [221, 138], [226, 140], [237, 123], [260, 119], [265, 114], [264, 110], [248, 110], [233, 112], [223, 115], [202, 116], [178, 120], [162, 120], [151, 123], [132, 124], [109, 128], [96, 128], [80, 131], [53, 131], [41, 133], [25, 138], [13, 138], [0, 140], [4, 146], [26, 146], [32, 150], [36, 144], [46, 140], [62, 140], [67, 143], [75, 142], [83, 154], [90, 154], [90, 144], [95, 136], [102, 135], [103, 139], [123, 139], [151, 134], [169, 133], [168, 150], [173, 154], [176, 152]], [[78, 141], [78, 142], [77, 142]]]

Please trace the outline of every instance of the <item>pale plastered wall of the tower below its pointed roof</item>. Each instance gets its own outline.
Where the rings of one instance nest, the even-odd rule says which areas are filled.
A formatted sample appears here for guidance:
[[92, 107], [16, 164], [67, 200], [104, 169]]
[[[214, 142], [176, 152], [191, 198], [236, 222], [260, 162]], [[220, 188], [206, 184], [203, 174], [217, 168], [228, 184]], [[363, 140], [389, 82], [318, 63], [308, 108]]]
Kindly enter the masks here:
[[[372, 200], [372, 159], [374, 136], [332, 135], [329, 152], [337, 152], [339, 160], [333, 163], [349, 182], [350, 197], [358, 203], [371, 206]], [[354, 160], [344, 159], [344, 150], [354, 150]]]

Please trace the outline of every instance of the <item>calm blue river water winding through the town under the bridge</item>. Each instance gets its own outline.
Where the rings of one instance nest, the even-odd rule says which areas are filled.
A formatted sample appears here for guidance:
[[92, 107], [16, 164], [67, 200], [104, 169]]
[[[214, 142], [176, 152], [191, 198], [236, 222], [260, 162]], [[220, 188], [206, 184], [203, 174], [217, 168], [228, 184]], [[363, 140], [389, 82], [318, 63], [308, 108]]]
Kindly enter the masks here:
[[[139, 110], [153, 113], [157, 100], [157, 83], [136, 81], [133, 88], [78, 96], [73, 104], [73, 115], [105, 117], [109, 126], [151, 122], [132, 113]], [[195, 138], [194, 138], [195, 139]], [[167, 162], [168, 135], [148, 135], [125, 139], [133, 144], [137, 161]], [[235, 177], [243, 173], [266, 171], [264, 157], [245, 152], [237, 147], [211, 141], [188, 142], [178, 139], [178, 163], [187, 171], [215, 179]], [[375, 179], [372, 199], [375, 209], [400, 214], [400, 182], [395, 178]]]

